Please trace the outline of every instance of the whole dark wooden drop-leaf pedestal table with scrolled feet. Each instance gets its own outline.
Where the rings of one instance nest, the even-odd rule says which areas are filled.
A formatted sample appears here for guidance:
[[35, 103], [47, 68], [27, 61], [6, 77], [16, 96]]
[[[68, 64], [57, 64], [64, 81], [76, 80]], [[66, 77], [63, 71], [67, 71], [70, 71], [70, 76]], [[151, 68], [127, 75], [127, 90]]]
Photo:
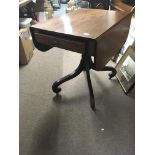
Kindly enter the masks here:
[[[30, 30], [34, 45], [39, 50], [47, 51], [52, 47], [60, 47], [82, 55], [78, 68], [56, 81], [52, 85], [53, 91], [59, 93], [60, 84], [76, 77], [84, 70], [87, 74], [90, 105], [95, 110], [89, 70], [112, 71], [109, 78], [116, 75], [116, 70], [106, 64], [125, 43], [131, 16], [132, 12], [79, 9], [32, 26]], [[91, 56], [94, 57], [94, 62]]]

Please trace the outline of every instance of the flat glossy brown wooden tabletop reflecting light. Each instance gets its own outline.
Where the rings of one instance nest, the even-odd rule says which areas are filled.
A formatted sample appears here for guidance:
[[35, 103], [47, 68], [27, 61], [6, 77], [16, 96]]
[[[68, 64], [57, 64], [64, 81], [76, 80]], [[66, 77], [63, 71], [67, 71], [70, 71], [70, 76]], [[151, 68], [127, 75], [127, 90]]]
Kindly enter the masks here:
[[97, 39], [127, 15], [126, 12], [101, 9], [79, 9], [33, 25], [33, 28]]

